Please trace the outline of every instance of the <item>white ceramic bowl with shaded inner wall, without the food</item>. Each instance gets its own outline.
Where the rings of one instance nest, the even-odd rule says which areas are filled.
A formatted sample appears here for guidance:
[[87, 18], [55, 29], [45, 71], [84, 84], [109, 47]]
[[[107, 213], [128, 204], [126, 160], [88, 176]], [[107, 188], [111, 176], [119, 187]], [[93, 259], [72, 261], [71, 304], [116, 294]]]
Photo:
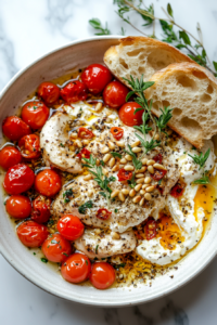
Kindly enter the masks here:
[[[105, 50], [116, 44], [118, 38], [114, 36], [78, 40], [42, 56], [21, 70], [0, 94], [0, 125], [5, 116], [14, 114], [14, 108], [18, 107], [26, 95], [31, 93], [41, 81], [51, 80], [68, 70], [77, 70], [91, 63], [102, 63]], [[33, 256], [33, 252], [26, 249], [16, 237], [5, 213], [3, 195], [0, 196], [0, 249], [8, 262], [46, 291], [67, 300], [92, 306], [129, 306], [165, 296], [199, 274], [216, 256], [217, 250], [217, 213], [215, 213], [212, 227], [203, 240], [179, 263], [178, 270], [171, 272], [174, 278], [169, 277], [171, 274], [165, 274], [153, 281], [151, 287], [144, 285], [141, 288], [112, 288], [102, 291], [65, 282], [58, 272]]]

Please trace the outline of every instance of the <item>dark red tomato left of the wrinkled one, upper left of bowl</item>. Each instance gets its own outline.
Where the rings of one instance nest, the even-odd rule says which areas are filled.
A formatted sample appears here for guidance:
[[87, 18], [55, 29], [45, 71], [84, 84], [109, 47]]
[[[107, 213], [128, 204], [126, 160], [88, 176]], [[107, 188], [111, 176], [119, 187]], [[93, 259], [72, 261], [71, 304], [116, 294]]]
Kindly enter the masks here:
[[38, 95], [47, 105], [54, 104], [60, 98], [60, 88], [53, 82], [42, 82], [38, 88]]

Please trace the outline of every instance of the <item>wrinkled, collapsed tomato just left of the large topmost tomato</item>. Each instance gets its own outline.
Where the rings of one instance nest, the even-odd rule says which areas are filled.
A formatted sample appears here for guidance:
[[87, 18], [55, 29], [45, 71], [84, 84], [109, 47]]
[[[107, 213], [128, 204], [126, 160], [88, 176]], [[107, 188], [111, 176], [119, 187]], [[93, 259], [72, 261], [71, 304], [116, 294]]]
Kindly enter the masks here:
[[88, 89], [79, 80], [71, 81], [61, 89], [61, 96], [67, 104], [85, 101], [88, 96]]

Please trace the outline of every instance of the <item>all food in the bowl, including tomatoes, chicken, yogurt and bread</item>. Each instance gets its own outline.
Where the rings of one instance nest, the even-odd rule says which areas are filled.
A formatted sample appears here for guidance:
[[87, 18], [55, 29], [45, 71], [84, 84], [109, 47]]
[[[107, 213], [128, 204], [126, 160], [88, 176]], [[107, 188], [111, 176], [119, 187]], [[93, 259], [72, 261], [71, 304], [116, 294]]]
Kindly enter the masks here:
[[[116, 75], [129, 79], [125, 84], [98, 63], [42, 82], [21, 118], [3, 121], [10, 142], [0, 151], [5, 210], [18, 223], [18, 239], [42, 262], [58, 263], [67, 282], [90, 281], [98, 289], [148, 284], [176, 270], [203, 238], [216, 199], [216, 156], [207, 140], [213, 78], [152, 39], [122, 39], [105, 62], [114, 53], [118, 64], [128, 53], [128, 67]], [[188, 75], [187, 67], [193, 68]], [[168, 82], [177, 76], [181, 86]], [[194, 96], [187, 78], [196, 84]], [[212, 133], [195, 133], [192, 120], [201, 122], [207, 96]], [[190, 112], [184, 132], [178, 109]]]

